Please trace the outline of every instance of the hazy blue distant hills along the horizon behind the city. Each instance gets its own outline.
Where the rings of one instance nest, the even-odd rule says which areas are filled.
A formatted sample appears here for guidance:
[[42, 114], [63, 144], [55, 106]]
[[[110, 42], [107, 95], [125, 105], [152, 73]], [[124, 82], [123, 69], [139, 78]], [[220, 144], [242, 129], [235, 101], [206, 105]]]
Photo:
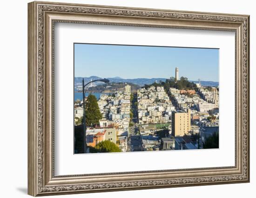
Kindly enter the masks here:
[[[84, 77], [85, 83], [90, 82], [91, 80], [101, 79], [101, 77], [91, 76], [91, 77]], [[139, 86], [144, 86], [145, 84], [152, 84], [152, 83], [159, 83], [160, 81], [165, 82], [166, 78], [134, 78], [134, 79], [123, 79], [121, 77], [111, 77], [108, 78], [110, 83], [133, 83]], [[198, 81], [190, 81], [193, 83], [198, 83]], [[95, 82], [92, 83], [92, 87], [104, 84], [102, 82]], [[213, 81], [201, 81], [202, 86], [218, 86], [218, 82]], [[82, 85], [82, 77], [74, 77], [74, 86], [81, 86]]]

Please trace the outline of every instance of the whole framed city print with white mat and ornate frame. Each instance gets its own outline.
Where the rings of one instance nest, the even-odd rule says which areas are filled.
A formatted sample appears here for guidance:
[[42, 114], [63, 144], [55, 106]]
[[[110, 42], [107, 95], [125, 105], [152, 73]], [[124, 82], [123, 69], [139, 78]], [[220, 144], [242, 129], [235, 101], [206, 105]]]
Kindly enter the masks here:
[[249, 182], [249, 16], [28, 4], [28, 194]]

